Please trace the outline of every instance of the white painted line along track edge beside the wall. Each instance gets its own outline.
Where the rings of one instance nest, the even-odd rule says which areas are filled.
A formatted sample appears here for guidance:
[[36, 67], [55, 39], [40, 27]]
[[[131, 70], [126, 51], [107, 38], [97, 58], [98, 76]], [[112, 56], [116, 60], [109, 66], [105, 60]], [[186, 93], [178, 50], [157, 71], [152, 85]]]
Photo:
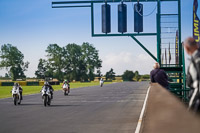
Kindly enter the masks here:
[[150, 90], [150, 87], [147, 90], [147, 94], [146, 94], [146, 97], [145, 97], [145, 100], [144, 100], [144, 104], [143, 104], [143, 107], [142, 107], [142, 111], [140, 113], [140, 117], [139, 117], [139, 120], [138, 120], [138, 124], [137, 124], [136, 130], [135, 130], [135, 133], [140, 133], [142, 120], [143, 120], [143, 116], [144, 116], [144, 111], [145, 111], [147, 99], [148, 99], [148, 96], [149, 96], [149, 90]]

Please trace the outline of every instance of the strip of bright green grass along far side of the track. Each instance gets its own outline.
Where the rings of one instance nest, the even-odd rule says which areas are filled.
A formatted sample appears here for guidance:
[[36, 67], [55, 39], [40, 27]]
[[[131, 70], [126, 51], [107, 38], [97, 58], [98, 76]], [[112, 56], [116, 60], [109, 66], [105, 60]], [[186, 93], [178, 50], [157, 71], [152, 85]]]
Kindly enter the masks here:
[[[104, 84], [111, 84], [112, 82], [105, 82]], [[71, 88], [89, 87], [99, 85], [99, 82], [86, 82], [86, 83], [70, 83]], [[61, 90], [61, 85], [53, 85], [54, 90]], [[42, 86], [22, 86], [23, 95], [40, 93]], [[11, 97], [10, 91], [12, 86], [0, 86], [0, 98]]]

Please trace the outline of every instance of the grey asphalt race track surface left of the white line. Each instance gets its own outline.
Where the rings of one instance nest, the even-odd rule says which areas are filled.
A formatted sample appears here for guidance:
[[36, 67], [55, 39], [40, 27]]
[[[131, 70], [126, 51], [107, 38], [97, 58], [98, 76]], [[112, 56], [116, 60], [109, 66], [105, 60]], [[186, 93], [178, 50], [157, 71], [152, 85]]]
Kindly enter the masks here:
[[24, 96], [14, 106], [0, 100], [0, 133], [133, 133], [147, 82], [123, 82], [54, 92], [44, 107], [40, 94]]

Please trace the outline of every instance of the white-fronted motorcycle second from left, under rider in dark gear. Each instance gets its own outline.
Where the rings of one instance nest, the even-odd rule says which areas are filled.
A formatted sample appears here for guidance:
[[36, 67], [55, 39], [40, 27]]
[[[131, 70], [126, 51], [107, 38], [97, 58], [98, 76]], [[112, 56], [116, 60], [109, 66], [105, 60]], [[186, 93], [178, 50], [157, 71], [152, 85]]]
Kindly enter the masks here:
[[51, 92], [48, 86], [43, 86], [42, 90], [42, 99], [44, 102], [44, 106], [51, 105]]

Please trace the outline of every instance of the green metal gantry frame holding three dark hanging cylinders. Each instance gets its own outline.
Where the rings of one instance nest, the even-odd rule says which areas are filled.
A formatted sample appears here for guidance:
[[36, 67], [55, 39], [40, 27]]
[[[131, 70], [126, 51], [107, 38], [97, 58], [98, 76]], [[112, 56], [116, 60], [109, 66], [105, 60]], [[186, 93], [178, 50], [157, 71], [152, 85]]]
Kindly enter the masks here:
[[[168, 73], [178, 73], [178, 77], [174, 79], [179, 79], [176, 83], [171, 83], [172, 92], [176, 93], [184, 101], [187, 101], [187, 91], [185, 84], [185, 59], [184, 59], [184, 49], [181, 43], [181, 0], [123, 0], [123, 2], [156, 2], [157, 3], [157, 33], [94, 33], [94, 4], [96, 3], [119, 3], [122, 0], [91, 0], [91, 1], [55, 1], [52, 2], [52, 8], [80, 8], [80, 7], [89, 7], [91, 8], [91, 35], [92, 37], [116, 37], [116, 36], [128, 36], [131, 37], [138, 45], [140, 45], [155, 61], [161, 64], [161, 2], [177, 2], [178, 8], [178, 32], [179, 32], [179, 64], [168, 65], [161, 67]], [[64, 6], [63, 6], [64, 5]], [[173, 14], [172, 14], [173, 15]], [[157, 58], [136, 38], [136, 36], [157, 36]], [[175, 84], [175, 87], [173, 87]], [[178, 87], [177, 87], [178, 86]], [[177, 93], [178, 92], [178, 93]]]

